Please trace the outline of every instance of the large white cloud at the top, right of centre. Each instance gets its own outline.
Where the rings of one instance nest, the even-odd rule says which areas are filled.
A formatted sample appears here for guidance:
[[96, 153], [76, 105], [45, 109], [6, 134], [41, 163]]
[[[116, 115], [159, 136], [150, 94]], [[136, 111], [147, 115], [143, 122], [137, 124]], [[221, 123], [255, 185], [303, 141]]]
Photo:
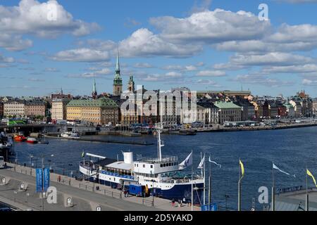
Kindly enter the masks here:
[[151, 24], [161, 30], [161, 37], [174, 43], [214, 44], [223, 41], [249, 40], [263, 37], [271, 29], [269, 21], [245, 11], [237, 13], [216, 9], [194, 13], [188, 18], [164, 16], [151, 18]]

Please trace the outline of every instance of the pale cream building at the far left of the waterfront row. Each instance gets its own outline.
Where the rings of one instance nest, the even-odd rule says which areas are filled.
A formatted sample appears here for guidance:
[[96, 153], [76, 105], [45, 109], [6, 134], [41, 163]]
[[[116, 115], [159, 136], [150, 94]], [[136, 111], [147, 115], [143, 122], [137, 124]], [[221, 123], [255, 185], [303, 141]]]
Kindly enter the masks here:
[[24, 118], [25, 101], [24, 100], [10, 100], [4, 103], [4, 117]]

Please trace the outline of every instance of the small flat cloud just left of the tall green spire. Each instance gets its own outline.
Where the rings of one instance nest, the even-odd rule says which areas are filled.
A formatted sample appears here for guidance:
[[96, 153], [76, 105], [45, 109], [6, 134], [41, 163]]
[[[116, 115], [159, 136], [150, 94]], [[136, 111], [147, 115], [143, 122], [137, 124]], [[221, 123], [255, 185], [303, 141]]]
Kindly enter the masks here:
[[71, 49], [60, 51], [51, 57], [56, 61], [69, 62], [100, 62], [109, 60], [109, 53], [106, 51], [97, 51], [94, 49]]

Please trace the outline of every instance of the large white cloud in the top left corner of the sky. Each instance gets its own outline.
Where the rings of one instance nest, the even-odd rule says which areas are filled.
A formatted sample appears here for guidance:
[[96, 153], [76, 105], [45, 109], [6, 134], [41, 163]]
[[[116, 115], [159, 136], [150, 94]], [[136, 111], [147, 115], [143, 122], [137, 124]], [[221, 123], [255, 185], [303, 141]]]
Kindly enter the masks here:
[[[50, 6], [56, 6], [56, 20], [49, 20]], [[55, 0], [40, 3], [35, 0], [21, 0], [18, 6], [0, 6], [0, 47], [8, 51], [20, 51], [32, 46], [24, 34], [55, 38], [61, 34], [83, 36], [100, 27], [97, 23], [75, 20]]]

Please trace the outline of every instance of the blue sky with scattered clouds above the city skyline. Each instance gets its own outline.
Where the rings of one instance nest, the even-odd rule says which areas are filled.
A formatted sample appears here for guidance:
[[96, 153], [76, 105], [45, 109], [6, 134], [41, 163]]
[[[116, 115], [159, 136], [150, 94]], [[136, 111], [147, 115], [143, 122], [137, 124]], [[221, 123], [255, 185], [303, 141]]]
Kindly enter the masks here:
[[[263, 20], [260, 4], [268, 6]], [[317, 0], [2, 0], [0, 96], [123, 89], [317, 96]]]

